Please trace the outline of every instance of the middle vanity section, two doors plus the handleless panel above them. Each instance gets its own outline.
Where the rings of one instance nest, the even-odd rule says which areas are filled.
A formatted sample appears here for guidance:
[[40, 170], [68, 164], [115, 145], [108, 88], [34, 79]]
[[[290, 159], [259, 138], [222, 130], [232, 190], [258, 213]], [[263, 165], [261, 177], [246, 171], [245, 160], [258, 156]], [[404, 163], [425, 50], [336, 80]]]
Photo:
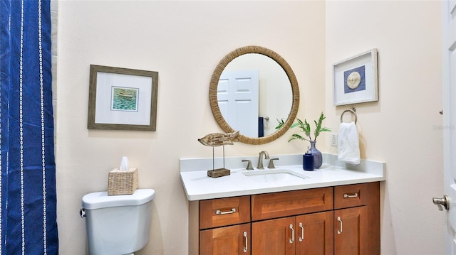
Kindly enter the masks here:
[[252, 195], [252, 254], [332, 254], [333, 188]]

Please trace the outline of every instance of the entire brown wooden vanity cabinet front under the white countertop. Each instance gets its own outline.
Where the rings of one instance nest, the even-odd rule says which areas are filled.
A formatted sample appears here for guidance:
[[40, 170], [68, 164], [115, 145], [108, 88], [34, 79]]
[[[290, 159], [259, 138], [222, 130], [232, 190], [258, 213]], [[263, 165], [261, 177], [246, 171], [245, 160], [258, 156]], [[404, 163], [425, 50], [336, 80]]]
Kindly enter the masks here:
[[380, 183], [199, 201], [199, 254], [379, 255]]

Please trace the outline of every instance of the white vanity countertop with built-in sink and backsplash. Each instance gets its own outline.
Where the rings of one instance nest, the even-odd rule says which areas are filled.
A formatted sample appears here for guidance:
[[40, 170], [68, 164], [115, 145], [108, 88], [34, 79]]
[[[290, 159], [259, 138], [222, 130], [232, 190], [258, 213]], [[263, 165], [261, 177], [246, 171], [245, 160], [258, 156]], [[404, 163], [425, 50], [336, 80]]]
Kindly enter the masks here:
[[[291, 157], [292, 160], [286, 160], [287, 157]], [[299, 158], [301, 157], [278, 156], [278, 158], [284, 158], [284, 162], [286, 163], [294, 163], [299, 161]], [[250, 159], [248, 157], [244, 158]], [[271, 158], [273, 157], [271, 156]], [[241, 159], [243, 158], [234, 158], [234, 161], [241, 161]], [[212, 162], [212, 158], [205, 160]], [[225, 161], [228, 161], [227, 164], [229, 164], [231, 160], [233, 160], [233, 158], [225, 159]], [[274, 161], [274, 163], [279, 161]], [[230, 175], [219, 178], [211, 178], [207, 176], [207, 168], [205, 168], [206, 170], [197, 170], [197, 166], [189, 167], [195, 165], [194, 163], [199, 165], [199, 167], [204, 165], [202, 164], [202, 159], [200, 158], [181, 159], [180, 176], [182, 179], [182, 185], [184, 186], [187, 194], [187, 199], [190, 201], [386, 180], [384, 170], [385, 163], [362, 160], [360, 165], [351, 166], [346, 163], [337, 162], [337, 156], [334, 158], [334, 155], [332, 154], [323, 155], [323, 166], [313, 171], [303, 170], [301, 163], [299, 165], [286, 166], [280, 166], [276, 163], [276, 169], [278, 170], [291, 170], [299, 175], [305, 175], [307, 177], [305, 179], [291, 178], [291, 180], [287, 179], [276, 181], [259, 181], [257, 178], [252, 178], [243, 174], [245, 172], [252, 171], [268, 171], [269, 169], [266, 167], [264, 170], [229, 168], [231, 169]], [[256, 162], [252, 163], [256, 165]], [[267, 166], [267, 164], [265, 164], [265, 166]], [[215, 168], [218, 167], [216, 166]], [[209, 168], [209, 170], [210, 169], [212, 168]]]

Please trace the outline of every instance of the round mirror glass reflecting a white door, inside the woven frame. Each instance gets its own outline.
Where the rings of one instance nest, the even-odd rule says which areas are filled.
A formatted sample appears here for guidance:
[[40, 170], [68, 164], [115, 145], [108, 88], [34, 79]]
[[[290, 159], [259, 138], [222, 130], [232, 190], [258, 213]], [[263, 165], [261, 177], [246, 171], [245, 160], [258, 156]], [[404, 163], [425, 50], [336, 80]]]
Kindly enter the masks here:
[[[253, 70], [257, 72], [257, 88], [253, 87], [254, 80], [249, 80], [249, 72]], [[234, 82], [236, 80], [238, 82]], [[255, 100], [254, 89], [257, 89], [257, 99], [249, 101]], [[231, 102], [224, 94], [227, 92], [234, 97], [229, 99]], [[249, 137], [273, 134], [279, 124], [276, 120], [288, 118], [292, 97], [291, 84], [284, 69], [272, 58], [258, 53], [234, 58], [224, 68], [217, 87], [217, 100], [225, 121], [232, 129]], [[259, 125], [259, 117], [268, 117], [269, 121], [264, 120], [263, 125]]]

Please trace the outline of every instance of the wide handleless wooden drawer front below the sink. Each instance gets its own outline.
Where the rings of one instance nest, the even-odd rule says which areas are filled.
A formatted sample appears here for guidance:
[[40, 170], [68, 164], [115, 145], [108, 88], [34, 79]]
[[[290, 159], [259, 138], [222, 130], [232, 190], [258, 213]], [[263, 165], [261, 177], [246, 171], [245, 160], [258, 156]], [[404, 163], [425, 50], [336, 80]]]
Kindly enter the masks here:
[[332, 209], [332, 187], [252, 195], [252, 221]]

